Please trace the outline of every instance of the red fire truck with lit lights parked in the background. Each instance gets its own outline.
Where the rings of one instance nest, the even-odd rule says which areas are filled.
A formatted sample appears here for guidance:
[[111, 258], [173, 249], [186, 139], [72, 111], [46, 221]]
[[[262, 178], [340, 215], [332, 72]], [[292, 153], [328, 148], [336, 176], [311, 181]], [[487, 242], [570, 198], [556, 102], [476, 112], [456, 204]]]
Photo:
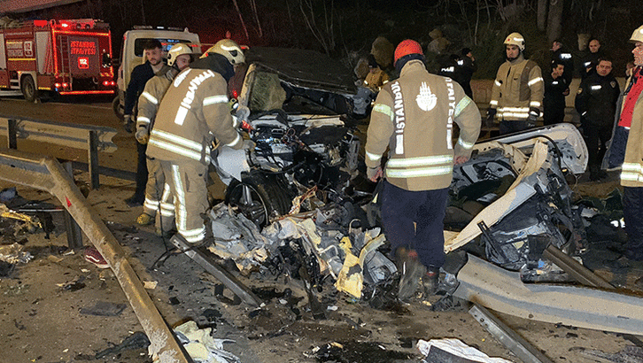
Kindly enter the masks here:
[[96, 19], [27, 20], [0, 29], [0, 90], [43, 94], [113, 94], [112, 38]]

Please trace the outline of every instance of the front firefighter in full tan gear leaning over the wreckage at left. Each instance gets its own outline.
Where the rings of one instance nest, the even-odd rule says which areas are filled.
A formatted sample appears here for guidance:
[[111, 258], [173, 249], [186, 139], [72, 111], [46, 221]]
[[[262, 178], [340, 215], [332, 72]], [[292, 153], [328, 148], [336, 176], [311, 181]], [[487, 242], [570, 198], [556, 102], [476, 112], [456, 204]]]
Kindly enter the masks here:
[[244, 139], [230, 115], [228, 81], [244, 63], [241, 48], [223, 39], [179, 73], [159, 106], [147, 155], [160, 161], [174, 196], [176, 229], [188, 243], [202, 243], [208, 207], [207, 170], [213, 137], [241, 149]]

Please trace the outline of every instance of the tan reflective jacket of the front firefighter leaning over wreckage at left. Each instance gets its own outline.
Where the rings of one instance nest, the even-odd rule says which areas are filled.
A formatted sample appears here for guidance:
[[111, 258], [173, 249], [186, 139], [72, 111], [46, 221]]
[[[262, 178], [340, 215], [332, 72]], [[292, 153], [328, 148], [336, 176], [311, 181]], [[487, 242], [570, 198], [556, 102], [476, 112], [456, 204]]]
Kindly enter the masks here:
[[210, 69], [187, 68], [174, 78], [160, 103], [147, 155], [208, 165], [213, 137], [234, 149], [244, 144], [230, 115], [228, 84]]

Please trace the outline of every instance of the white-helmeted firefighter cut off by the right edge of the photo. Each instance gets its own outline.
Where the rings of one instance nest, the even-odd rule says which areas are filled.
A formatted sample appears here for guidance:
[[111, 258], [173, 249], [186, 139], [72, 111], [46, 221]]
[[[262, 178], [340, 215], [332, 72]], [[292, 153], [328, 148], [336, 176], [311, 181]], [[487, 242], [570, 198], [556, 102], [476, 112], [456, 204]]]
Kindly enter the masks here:
[[643, 26], [630, 37], [634, 68], [625, 84], [610, 146], [609, 167], [621, 166], [626, 259], [643, 261]]

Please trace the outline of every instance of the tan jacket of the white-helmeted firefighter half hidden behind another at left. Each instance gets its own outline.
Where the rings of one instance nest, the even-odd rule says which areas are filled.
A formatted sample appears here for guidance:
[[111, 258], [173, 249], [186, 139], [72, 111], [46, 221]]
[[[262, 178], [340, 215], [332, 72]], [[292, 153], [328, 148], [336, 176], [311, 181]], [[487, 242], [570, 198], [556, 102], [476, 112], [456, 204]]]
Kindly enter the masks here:
[[167, 88], [174, 79], [178, 70], [172, 68], [166, 73], [156, 75], [145, 83], [145, 89], [138, 97], [138, 115], [136, 116], [136, 129], [144, 127], [150, 134], [150, 128], [154, 123], [159, 104]]

